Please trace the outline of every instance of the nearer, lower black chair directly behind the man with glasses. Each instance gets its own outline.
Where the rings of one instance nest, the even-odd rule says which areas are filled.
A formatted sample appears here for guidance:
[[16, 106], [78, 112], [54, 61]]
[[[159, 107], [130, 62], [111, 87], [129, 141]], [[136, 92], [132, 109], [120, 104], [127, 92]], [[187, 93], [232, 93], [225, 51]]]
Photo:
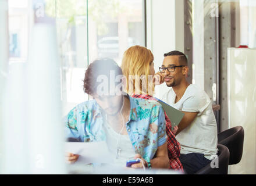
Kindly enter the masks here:
[[227, 174], [229, 167], [229, 149], [221, 144], [218, 144], [218, 149], [218, 159], [216, 159], [214, 163], [215, 166], [218, 165], [218, 168], [212, 168], [211, 163], [209, 163], [195, 174]]

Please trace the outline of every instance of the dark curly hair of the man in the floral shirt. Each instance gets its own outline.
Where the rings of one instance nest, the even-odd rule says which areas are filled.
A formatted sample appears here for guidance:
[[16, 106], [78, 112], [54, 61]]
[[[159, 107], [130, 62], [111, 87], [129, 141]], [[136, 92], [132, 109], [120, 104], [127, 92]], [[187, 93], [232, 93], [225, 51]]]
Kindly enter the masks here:
[[[122, 69], [113, 59], [101, 58], [94, 60], [94, 62], [88, 66], [84, 75], [84, 92], [89, 95], [96, 94], [97, 86], [100, 84], [99, 82], [97, 82], [97, 77], [100, 75], [104, 75], [108, 78], [108, 80], [110, 80], [111, 71], [115, 72], [115, 78], [116, 76], [123, 74]], [[121, 82], [122, 80], [120, 80], [119, 82], [115, 82], [115, 84], [119, 84]]]

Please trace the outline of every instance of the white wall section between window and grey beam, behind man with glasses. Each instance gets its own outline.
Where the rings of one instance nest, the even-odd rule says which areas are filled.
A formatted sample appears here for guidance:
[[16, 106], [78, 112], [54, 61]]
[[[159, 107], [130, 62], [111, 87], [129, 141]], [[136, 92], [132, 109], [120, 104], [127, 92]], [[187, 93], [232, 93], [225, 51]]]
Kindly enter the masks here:
[[[154, 54], [155, 71], [158, 71], [163, 53], [184, 52], [184, 4], [180, 0], [147, 0], [146, 6], [147, 48]], [[156, 87], [155, 96], [159, 97], [168, 89], [166, 84]]]

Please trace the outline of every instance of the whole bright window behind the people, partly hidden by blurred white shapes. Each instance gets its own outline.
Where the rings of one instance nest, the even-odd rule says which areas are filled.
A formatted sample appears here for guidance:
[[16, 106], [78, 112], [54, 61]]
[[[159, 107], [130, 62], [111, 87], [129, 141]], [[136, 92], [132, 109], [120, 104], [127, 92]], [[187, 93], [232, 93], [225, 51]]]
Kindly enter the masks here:
[[27, 62], [29, 35], [37, 22], [31, 10], [43, 10], [46, 22], [56, 22], [65, 115], [88, 100], [83, 78], [93, 60], [108, 57], [120, 65], [127, 48], [145, 46], [144, 8], [144, 0], [10, 0], [10, 63]]

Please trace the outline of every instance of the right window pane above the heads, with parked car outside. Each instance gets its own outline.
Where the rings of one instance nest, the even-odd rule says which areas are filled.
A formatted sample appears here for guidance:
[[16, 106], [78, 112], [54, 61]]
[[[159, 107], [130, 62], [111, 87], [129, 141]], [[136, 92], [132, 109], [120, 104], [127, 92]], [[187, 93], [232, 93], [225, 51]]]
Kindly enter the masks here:
[[108, 57], [120, 65], [127, 48], [145, 46], [141, 0], [88, 1], [88, 18], [90, 62]]

